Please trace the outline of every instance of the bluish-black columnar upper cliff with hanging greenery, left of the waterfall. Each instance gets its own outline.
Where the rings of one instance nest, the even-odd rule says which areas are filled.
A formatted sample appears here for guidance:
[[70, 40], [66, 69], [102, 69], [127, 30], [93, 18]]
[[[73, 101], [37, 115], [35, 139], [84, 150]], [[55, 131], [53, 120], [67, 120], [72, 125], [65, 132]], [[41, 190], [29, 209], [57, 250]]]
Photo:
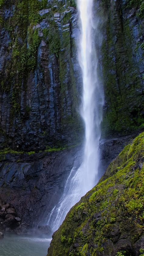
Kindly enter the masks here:
[[1, 1], [1, 148], [77, 144], [81, 85], [73, 1]]

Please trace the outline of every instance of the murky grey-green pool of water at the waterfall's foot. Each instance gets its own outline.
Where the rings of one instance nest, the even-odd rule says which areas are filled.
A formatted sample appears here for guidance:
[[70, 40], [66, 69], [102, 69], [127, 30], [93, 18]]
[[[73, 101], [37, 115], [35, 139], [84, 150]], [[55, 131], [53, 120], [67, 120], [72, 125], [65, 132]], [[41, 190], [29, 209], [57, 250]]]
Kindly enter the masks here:
[[0, 256], [46, 256], [51, 239], [4, 234]]

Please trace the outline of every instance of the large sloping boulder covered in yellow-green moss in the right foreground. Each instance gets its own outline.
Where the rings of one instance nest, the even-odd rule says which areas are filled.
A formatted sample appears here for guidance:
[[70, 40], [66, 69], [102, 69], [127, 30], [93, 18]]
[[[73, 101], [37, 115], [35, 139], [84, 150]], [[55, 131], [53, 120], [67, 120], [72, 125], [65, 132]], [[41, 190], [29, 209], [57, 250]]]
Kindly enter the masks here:
[[50, 255], [144, 255], [142, 173], [144, 133], [109, 165], [99, 183], [53, 234]]

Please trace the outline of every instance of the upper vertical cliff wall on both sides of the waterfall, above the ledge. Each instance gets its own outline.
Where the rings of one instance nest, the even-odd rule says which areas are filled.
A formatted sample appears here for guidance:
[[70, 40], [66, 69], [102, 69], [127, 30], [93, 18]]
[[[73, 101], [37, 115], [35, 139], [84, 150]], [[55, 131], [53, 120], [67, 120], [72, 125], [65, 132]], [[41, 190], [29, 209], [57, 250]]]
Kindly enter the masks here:
[[[106, 136], [143, 122], [141, 2], [95, 0]], [[0, 3], [0, 147], [31, 151], [77, 144], [83, 125], [75, 1]]]

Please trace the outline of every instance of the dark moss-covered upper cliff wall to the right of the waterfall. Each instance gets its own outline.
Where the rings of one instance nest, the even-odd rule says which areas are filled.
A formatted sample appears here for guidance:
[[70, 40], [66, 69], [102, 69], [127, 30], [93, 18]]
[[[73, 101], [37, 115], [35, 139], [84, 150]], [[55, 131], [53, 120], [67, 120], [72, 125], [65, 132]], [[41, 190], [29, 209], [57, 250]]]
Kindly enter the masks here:
[[143, 1], [105, 1], [101, 47], [105, 89], [103, 130], [126, 133], [143, 123]]

